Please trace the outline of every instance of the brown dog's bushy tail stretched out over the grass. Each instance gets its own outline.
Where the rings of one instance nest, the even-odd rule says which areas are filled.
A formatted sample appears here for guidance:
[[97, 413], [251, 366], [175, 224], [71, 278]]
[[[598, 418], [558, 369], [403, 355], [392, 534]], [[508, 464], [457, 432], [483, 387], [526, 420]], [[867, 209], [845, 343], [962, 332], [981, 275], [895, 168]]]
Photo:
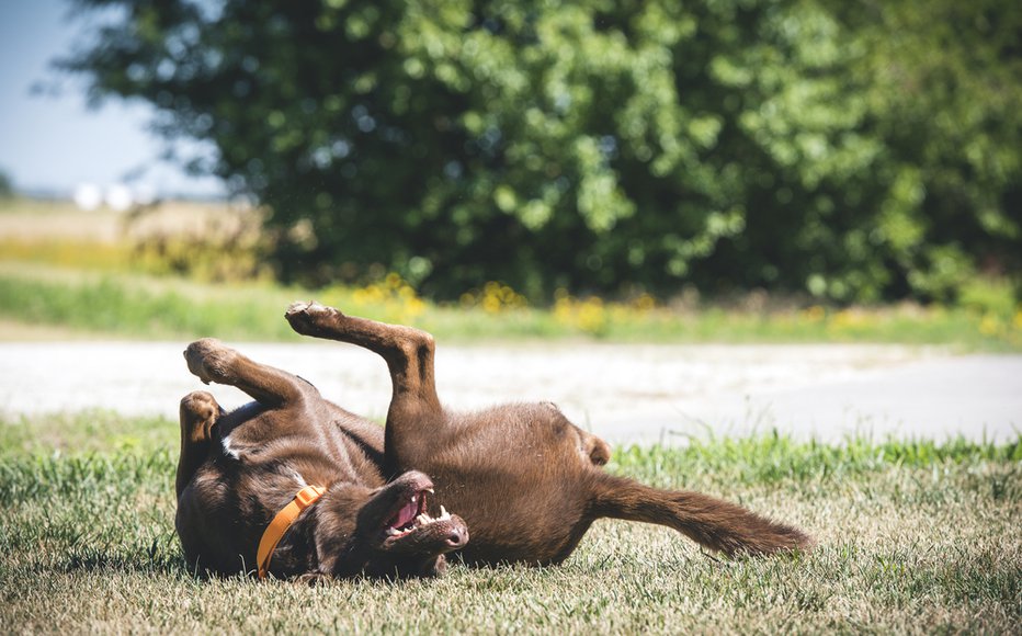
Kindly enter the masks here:
[[800, 530], [740, 506], [699, 492], [650, 488], [605, 473], [594, 485], [593, 501], [597, 516], [667, 525], [727, 555], [766, 555], [813, 546]]

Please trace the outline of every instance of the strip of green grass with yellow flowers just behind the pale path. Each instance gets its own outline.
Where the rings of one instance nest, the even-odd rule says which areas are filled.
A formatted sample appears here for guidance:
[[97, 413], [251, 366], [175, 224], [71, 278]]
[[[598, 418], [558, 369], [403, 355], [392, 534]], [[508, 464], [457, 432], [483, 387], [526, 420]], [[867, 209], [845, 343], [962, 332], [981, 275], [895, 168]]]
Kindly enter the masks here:
[[[383, 289], [381, 292], [379, 289]], [[1022, 313], [981, 307], [872, 310], [700, 310], [576, 302], [565, 310], [444, 306], [400, 289], [307, 289], [272, 283], [216, 285], [171, 276], [77, 271], [0, 260], [0, 318], [121, 338], [292, 340], [283, 311], [318, 299], [351, 314], [416, 325], [451, 341], [600, 338], [620, 342], [893, 342], [1022, 350]], [[561, 307], [564, 309], [564, 307]]]

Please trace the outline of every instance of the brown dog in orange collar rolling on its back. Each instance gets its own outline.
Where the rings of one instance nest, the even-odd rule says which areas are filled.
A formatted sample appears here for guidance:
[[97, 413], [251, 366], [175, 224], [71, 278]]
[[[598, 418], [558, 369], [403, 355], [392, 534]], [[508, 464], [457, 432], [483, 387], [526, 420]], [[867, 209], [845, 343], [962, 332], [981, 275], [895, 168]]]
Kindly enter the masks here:
[[[470, 564], [556, 564], [604, 516], [667, 525], [728, 555], [811, 543], [733, 503], [604, 473], [606, 443], [552, 404], [445, 410], [429, 333], [315, 304], [293, 305], [286, 318], [299, 333], [383, 356], [394, 388], [386, 428], [215, 340], [189, 345], [193, 374], [256, 400], [230, 413], [204, 391], [181, 401], [177, 527], [203, 569], [434, 575], [453, 550]], [[307, 486], [325, 493], [309, 503]], [[268, 531], [285, 509], [293, 523]]]

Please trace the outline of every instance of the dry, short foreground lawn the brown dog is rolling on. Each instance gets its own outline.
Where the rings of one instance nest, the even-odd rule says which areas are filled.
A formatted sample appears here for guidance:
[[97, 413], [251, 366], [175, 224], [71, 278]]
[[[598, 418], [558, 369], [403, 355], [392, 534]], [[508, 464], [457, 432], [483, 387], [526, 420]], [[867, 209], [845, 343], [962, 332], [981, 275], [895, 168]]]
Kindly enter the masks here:
[[173, 534], [177, 427], [0, 418], [0, 628], [10, 633], [1011, 633], [1022, 624], [1022, 439], [781, 435], [618, 451], [611, 470], [808, 529], [806, 555], [719, 560], [602, 521], [561, 567], [308, 588], [201, 580]]

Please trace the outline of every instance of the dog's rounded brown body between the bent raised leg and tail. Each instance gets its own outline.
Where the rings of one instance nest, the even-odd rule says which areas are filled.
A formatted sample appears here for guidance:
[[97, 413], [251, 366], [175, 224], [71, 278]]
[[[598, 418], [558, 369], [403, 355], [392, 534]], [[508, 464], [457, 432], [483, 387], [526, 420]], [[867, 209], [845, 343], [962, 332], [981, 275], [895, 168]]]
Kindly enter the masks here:
[[[522, 411], [529, 417], [516, 417]], [[579, 446], [588, 434], [536, 417], [532, 406], [498, 414], [510, 417], [462, 422], [462, 434], [420, 456], [416, 468], [433, 478], [436, 503], [468, 524], [465, 560], [559, 563], [592, 522], [588, 503], [599, 469]]]

